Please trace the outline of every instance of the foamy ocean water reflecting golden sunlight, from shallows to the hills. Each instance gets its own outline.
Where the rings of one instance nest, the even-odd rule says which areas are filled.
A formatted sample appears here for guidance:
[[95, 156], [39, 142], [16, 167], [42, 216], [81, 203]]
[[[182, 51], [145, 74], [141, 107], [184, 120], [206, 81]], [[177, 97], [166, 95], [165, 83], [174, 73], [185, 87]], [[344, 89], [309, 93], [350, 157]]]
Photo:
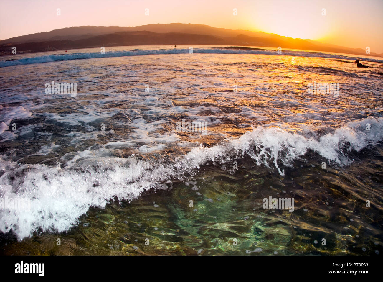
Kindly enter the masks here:
[[382, 78], [264, 47], [2, 56], [1, 253], [379, 254]]

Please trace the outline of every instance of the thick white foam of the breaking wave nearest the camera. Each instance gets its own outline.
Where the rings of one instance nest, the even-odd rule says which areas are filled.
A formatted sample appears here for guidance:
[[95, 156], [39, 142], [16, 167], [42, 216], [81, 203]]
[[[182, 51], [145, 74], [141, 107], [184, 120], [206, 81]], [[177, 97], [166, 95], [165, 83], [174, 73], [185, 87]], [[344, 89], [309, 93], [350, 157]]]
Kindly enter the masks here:
[[[370, 130], [365, 129], [369, 123]], [[360, 151], [382, 140], [383, 118], [350, 122], [347, 126], [319, 138], [304, 137], [277, 127], [257, 127], [237, 139], [223, 141], [213, 147], [193, 148], [175, 162], [146, 162], [136, 157], [117, 158], [113, 149], [98, 148], [67, 153], [61, 158], [66, 167], [23, 165], [9, 160], [0, 162], [1, 197], [30, 199], [30, 210], [0, 210], [0, 230], [13, 229], [19, 239], [30, 236], [39, 227], [44, 231], [66, 231], [90, 206], [104, 208], [113, 196], [132, 200], [150, 188], [166, 189], [166, 181], [183, 178], [206, 162], [231, 165], [234, 160], [250, 156], [257, 165], [277, 169], [284, 175], [294, 160], [304, 159], [308, 150], [344, 165], [347, 153]], [[348, 142], [348, 145], [345, 144]], [[116, 143], [116, 142], [115, 142]], [[165, 144], [142, 146], [144, 152], [160, 150]], [[111, 146], [114, 147], [114, 146]], [[41, 148], [51, 152], [56, 145]], [[274, 167], [274, 168], [273, 168]], [[17, 175], [18, 177], [14, 177]]]

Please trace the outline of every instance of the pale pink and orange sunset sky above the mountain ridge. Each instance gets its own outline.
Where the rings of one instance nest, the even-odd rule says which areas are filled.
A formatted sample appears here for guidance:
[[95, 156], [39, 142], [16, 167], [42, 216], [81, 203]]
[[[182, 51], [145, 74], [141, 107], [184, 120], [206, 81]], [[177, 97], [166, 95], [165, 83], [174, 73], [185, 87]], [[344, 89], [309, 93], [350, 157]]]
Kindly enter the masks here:
[[[0, 0], [0, 39], [54, 29], [192, 23], [383, 53], [383, 0]], [[56, 15], [56, 9], [61, 15]], [[149, 15], [145, 15], [149, 8]], [[237, 9], [237, 16], [233, 9]], [[326, 15], [322, 15], [322, 8]]]

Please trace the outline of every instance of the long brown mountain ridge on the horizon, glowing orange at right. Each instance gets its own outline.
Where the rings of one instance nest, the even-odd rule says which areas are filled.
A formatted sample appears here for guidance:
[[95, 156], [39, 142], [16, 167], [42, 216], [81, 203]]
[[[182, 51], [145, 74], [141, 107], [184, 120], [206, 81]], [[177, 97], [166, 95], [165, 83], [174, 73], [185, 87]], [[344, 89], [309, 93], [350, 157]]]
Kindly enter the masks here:
[[306, 49], [335, 53], [366, 54], [364, 49], [353, 49], [314, 40], [289, 38], [272, 33], [229, 30], [208, 25], [185, 23], [150, 24], [134, 27], [74, 26], [48, 32], [9, 38], [0, 42], [0, 52], [8, 54], [12, 46], [21, 52], [77, 49], [100, 46], [128, 46], [154, 44], [209, 44]]

